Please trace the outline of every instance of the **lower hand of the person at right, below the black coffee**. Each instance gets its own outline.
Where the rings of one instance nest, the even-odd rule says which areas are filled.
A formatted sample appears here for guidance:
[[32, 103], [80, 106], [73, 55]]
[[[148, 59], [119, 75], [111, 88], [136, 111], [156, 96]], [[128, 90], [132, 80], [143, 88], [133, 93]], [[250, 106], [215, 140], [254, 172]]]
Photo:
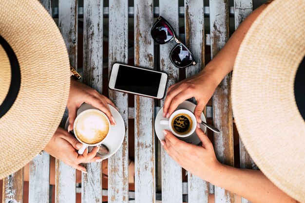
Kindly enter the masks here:
[[201, 129], [196, 128], [196, 133], [202, 142], [202, 146], [196, 146], [179, 140], [169, 130], [164, 130], [163, 133], [165, 141], [161, 141], [161, 144], [172, 159], [187, 171], [210, 182], [221, 164], [216, 159], [208, 136]]

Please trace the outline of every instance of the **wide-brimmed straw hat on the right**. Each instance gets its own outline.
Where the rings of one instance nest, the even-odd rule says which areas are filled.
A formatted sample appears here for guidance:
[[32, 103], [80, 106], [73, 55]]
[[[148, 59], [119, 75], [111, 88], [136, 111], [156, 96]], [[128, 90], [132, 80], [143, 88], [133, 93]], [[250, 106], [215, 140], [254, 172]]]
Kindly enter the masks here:
[[305, 67], [299, 68], [305, 62], [304, 14], [304, 0], [267, 6], [240, 46], [231, 90], [248, 153], [272, 183], [300, 202], [305, 202]]

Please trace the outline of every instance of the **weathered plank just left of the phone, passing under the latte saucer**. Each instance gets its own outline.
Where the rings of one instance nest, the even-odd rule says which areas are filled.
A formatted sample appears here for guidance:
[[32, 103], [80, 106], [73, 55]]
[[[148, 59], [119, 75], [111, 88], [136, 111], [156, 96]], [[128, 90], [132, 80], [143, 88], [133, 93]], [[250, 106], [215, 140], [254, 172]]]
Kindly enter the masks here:
[[[103, 74], [103, 1], [84, 1], [83, 82], [102, 93]], [[82, 203], [102, 202], [102, 164], [84, 164]]]

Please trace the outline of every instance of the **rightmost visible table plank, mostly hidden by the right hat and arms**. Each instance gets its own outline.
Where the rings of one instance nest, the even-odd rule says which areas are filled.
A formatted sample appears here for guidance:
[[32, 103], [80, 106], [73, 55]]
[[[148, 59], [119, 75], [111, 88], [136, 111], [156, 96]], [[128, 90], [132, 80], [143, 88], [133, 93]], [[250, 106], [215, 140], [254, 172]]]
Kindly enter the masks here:
[[[235, 29], [247, 18], [247, 16], [253, 11], [252, 0], [234, 0], [234, 19]], [[239, 139], [239, 150], [240, 150], [240, 166], [241, 168], [257, 169], [257, 166], [248, 154], [241, 139]], [[242, 197], [242, 203], [250, 203], [247, 199]]]

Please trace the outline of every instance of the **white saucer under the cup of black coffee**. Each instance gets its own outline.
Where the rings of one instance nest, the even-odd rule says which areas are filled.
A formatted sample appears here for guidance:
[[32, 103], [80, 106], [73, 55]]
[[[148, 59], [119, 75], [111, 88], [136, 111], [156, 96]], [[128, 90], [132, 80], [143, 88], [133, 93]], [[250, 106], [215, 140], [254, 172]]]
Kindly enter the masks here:
[[[196, 107], [196, 105], [191, 103], [190, 101], [184, 101], [177, 107], [176, 110], [186, 109], [186, 110], [189, 110], [191, 112], [194, 112], [195, 107]], [[156, 132], [157, 137], [161, 141], [161, 140], [165, 140], [163, 130], [164, 129], [170, 130], [170, 128], [168, 126], [165, 126], [165, 125], [160, 125], [160, 120], [169, 120], [168, 118], [163, 117], [163, 107], [158, 112], [158, 114], [155, 118], [155, 121], [154, 121], [154, 130]], [[203, 113], [201, 113], [201, 120], [204, 121], [204, 122], [207, 122], [206, 117]], [[200, 124], [200, 128], [204, 132], [206, 132], [206, 130], [207, 130], [206, 127], [202, 124]], [[191, 144], [194, 144], [194, 145], [198, 145], [201, 142], [200, 139], [198, 138], [196, 132], [194, 132], [193, 134], [191, 134], [189, 137], [186, 137], [186, 138], [182, 138], [182, 137], [177, 137], [177, 138], [179, 140], [183, 140], [187, 143], [191, 143]]]

